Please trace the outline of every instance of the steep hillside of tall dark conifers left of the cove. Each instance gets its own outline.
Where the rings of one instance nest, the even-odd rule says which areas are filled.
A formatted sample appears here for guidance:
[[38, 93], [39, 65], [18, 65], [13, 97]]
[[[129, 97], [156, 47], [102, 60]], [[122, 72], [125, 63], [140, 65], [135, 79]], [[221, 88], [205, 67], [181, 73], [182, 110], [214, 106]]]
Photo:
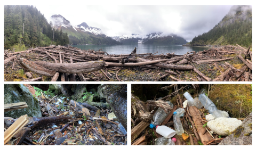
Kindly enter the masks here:
[[[4, 48], [67, 45], [62, 30], [52, 29], [44, 15], [32, 5], [4, 6]], [[26, 47], [25, 47], [26, 46]]]

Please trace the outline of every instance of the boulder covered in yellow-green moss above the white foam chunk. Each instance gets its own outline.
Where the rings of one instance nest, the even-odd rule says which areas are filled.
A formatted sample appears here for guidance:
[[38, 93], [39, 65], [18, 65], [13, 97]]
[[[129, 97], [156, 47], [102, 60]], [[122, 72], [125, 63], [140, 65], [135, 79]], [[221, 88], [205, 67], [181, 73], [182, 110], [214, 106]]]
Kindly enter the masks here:
[[219, 110], [228, 111], [233, 118], [245, 118], [252, 112], [250, 84], [218, 84], [211, 88], [209, 98]]

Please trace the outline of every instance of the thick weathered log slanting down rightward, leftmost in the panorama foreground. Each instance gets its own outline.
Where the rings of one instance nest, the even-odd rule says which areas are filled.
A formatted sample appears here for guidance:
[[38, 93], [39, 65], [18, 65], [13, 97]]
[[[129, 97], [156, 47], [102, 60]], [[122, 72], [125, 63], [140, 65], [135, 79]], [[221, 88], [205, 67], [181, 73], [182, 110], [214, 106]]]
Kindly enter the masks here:
[[25, 69], [27, 69], [29, 71], [38, 73], [39, 75], [52, 77], [56, 73], [56, 71], [46, 69], [46, 68], [44, 68], [41, 65], [38, 65], [38, 64], [36, 64], [34, 62], [28, 61], [28, 60], [23, 59], [23, 58], [19, 59], [19, 63], [21, 65], [21, 67], [23, 67], [23, 68], [25, 68]]

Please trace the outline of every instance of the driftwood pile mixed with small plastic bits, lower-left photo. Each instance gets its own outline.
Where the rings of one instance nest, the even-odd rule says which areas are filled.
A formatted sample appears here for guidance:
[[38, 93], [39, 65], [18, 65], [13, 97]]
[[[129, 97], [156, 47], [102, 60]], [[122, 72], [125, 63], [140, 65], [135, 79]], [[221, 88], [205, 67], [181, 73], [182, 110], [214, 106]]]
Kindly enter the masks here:
[[[7, 145], [126, 145], [127, 136], [111, 109], [98, 109], [87, 103], [63, 100], [58, 96], [39, 96], [42, 117], [5, 117], [4, 140]], [[6, 105], [6, 108], [10, 105]], [[13, 108], [12, 108], [13, 110]], [[6, 110], [7, 111], [7, 110]], [[24, 124], [22, 124], [24, 123]], [[12, 134], [15, 129], [16, 133]]]

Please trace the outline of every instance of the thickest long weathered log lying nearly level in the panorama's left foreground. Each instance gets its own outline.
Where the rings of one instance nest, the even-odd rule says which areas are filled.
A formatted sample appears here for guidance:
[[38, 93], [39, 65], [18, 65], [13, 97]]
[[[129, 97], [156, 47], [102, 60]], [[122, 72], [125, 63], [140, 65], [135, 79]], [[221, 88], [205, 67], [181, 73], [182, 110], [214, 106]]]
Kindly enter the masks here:
[[[104, 67], [104, 61], [78, 62], [78, 63], [49, 63], [44, 61], [35, 62], [42, 67], [62, 73], [86, 73], [100, 70]], [[54, 73], [55, 74], [55, 73]]]

